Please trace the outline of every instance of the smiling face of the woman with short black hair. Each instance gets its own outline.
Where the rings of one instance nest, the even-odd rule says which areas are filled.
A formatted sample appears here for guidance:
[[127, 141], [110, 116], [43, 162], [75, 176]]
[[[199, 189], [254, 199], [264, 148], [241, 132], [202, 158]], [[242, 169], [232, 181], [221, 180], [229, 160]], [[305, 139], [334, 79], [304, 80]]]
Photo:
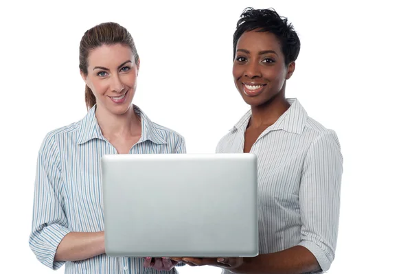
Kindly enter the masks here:
[[271, 32], [244, 32], [236, 46], [233, 79], [244, 102], [261, 106], [284, 97], [285, 82], [295, 62], [285, 65], [282, 45]]

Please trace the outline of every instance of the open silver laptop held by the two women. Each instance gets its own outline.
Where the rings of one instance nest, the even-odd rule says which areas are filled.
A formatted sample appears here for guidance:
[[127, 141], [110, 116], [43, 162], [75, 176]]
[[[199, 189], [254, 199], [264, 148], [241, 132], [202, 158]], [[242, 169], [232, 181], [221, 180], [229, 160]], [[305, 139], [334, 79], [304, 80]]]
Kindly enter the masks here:
[[106, 254], [258, 255], [256, 169], [249, 153], [105, 155]]

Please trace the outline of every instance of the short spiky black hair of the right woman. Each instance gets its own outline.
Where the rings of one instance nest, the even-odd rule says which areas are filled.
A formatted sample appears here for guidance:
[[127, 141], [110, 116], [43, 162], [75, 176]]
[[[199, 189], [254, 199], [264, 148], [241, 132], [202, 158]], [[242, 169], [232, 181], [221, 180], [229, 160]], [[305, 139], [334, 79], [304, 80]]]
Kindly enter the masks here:
[[300, 40], [293, 25], [286, 17], [279, 16], [273, 9], [255, 10], [246, 8], [240, 15], [236, 31], [233, 34], [233, 60], [236, 56], [236, 45], [244, 32], [259, 29], [258, 32], [271, 32], [279, 39], [285, 65], [297, 59], [300, 51]]

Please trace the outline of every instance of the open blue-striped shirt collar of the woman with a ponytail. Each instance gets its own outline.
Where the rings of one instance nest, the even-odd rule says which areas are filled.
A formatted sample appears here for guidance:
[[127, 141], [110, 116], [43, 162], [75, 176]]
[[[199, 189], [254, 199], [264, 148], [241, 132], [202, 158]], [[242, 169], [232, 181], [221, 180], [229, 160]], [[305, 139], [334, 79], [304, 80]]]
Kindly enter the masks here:
[[[91, 139], [105, 140], [98, 124], [98, 119], [96, 119], [95, 110], [96, 105], [94, 105], [87, 115], [80, 121], [78, 144], [84, 144]], [[138, 143], [149, 140], [155, 144], [167, 144], [162, 137], [161, 132], [158, 130], [157, 125], [150, 121], [148, 116], [135, 104], [133, 104], [133, 110], [141, 119], [141, 137]]]

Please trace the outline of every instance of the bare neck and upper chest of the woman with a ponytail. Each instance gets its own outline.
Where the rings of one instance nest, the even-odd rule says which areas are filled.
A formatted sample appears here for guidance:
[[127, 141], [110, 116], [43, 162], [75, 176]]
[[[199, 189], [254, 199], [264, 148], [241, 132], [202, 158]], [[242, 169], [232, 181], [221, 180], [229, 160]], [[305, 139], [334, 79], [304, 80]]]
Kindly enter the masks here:
[[95, 111], [96, 119], [102, 130], [104, 137], [133, 137], [141, 135], [141, 123], [137, 117], [133, 105], [123, 114], [113, 114], [104, 109], [97, 107]]

